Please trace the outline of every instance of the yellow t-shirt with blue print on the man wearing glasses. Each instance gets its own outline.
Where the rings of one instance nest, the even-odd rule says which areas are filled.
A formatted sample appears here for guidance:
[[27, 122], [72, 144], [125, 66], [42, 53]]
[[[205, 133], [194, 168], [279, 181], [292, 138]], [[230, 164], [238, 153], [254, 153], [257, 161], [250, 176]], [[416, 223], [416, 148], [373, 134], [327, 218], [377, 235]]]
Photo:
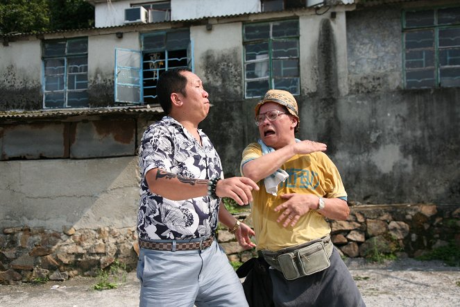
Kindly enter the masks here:
[[[245, 163], [262, 156], [262, 148], [258, 143], [251, 143], [243, 151], [242, 167]], [[280, 167], [289, 174], [286, 181], [278, 185], [278, 196], [267, 193], [264, 179], [260, 180], [258, 191], [253, 191], [251, 206], [257, 249], [277, 251], [284, 247], [296, 246], [315, 240], [330, 233], [330, 226], [325, 218], [316, 210], [309, 210], [300, 217], [295, 226], [284, 228], [276, 222], [280, 212], [273, 209], [282, 204], [282, 194], [300, 193], [315, 194], [325, 198], [346, 198], [342, 179], [337, 167], [323, 152], [307, 155], [296, 155]]]

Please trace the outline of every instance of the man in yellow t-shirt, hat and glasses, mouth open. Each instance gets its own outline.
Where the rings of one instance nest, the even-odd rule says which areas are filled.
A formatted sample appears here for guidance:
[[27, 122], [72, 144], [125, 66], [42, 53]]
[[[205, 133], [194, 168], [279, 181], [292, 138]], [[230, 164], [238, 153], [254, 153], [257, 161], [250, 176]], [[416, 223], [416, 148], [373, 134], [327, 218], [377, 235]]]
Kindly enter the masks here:
[[300, 119], [289, 92], [266, 92], [255, 115], [260, 139], [244, 149], [241, 174], [259, 185], [252, 218], [257, 251], [270, 265], [273, 304], [365, 306], [325, 221], [350, 213], [326, 145], [295, 138]]

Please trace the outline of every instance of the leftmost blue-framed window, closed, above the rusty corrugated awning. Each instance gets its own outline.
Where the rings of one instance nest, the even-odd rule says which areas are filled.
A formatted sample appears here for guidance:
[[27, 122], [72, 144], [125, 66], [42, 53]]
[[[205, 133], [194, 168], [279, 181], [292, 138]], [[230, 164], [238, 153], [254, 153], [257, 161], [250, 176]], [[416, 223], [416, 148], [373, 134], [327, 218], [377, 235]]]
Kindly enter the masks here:
[[43, 108], [88, 106], [88, 40], [43, 43]]

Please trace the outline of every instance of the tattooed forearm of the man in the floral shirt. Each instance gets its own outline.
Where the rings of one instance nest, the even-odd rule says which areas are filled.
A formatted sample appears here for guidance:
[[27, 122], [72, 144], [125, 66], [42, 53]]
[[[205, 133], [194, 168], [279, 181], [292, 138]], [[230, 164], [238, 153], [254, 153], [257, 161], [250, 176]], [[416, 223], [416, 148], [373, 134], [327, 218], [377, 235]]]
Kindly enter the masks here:
[[207, 180], [189, 179], [163, 169], [151, 169], [146, 174], [152, 193], [174, 201], [202, 197], [207, 194]]

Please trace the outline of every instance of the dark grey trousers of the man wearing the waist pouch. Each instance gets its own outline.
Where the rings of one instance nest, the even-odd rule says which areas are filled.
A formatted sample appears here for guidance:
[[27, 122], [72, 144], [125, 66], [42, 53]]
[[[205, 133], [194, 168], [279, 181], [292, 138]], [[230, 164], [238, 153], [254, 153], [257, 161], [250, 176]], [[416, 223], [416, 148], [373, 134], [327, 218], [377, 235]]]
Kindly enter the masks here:
[[334, 248], [327, 269], [300, 277], [284, 279], [281, 272], [269, 269], [275, 306], [366, 306], [348, 267]]

